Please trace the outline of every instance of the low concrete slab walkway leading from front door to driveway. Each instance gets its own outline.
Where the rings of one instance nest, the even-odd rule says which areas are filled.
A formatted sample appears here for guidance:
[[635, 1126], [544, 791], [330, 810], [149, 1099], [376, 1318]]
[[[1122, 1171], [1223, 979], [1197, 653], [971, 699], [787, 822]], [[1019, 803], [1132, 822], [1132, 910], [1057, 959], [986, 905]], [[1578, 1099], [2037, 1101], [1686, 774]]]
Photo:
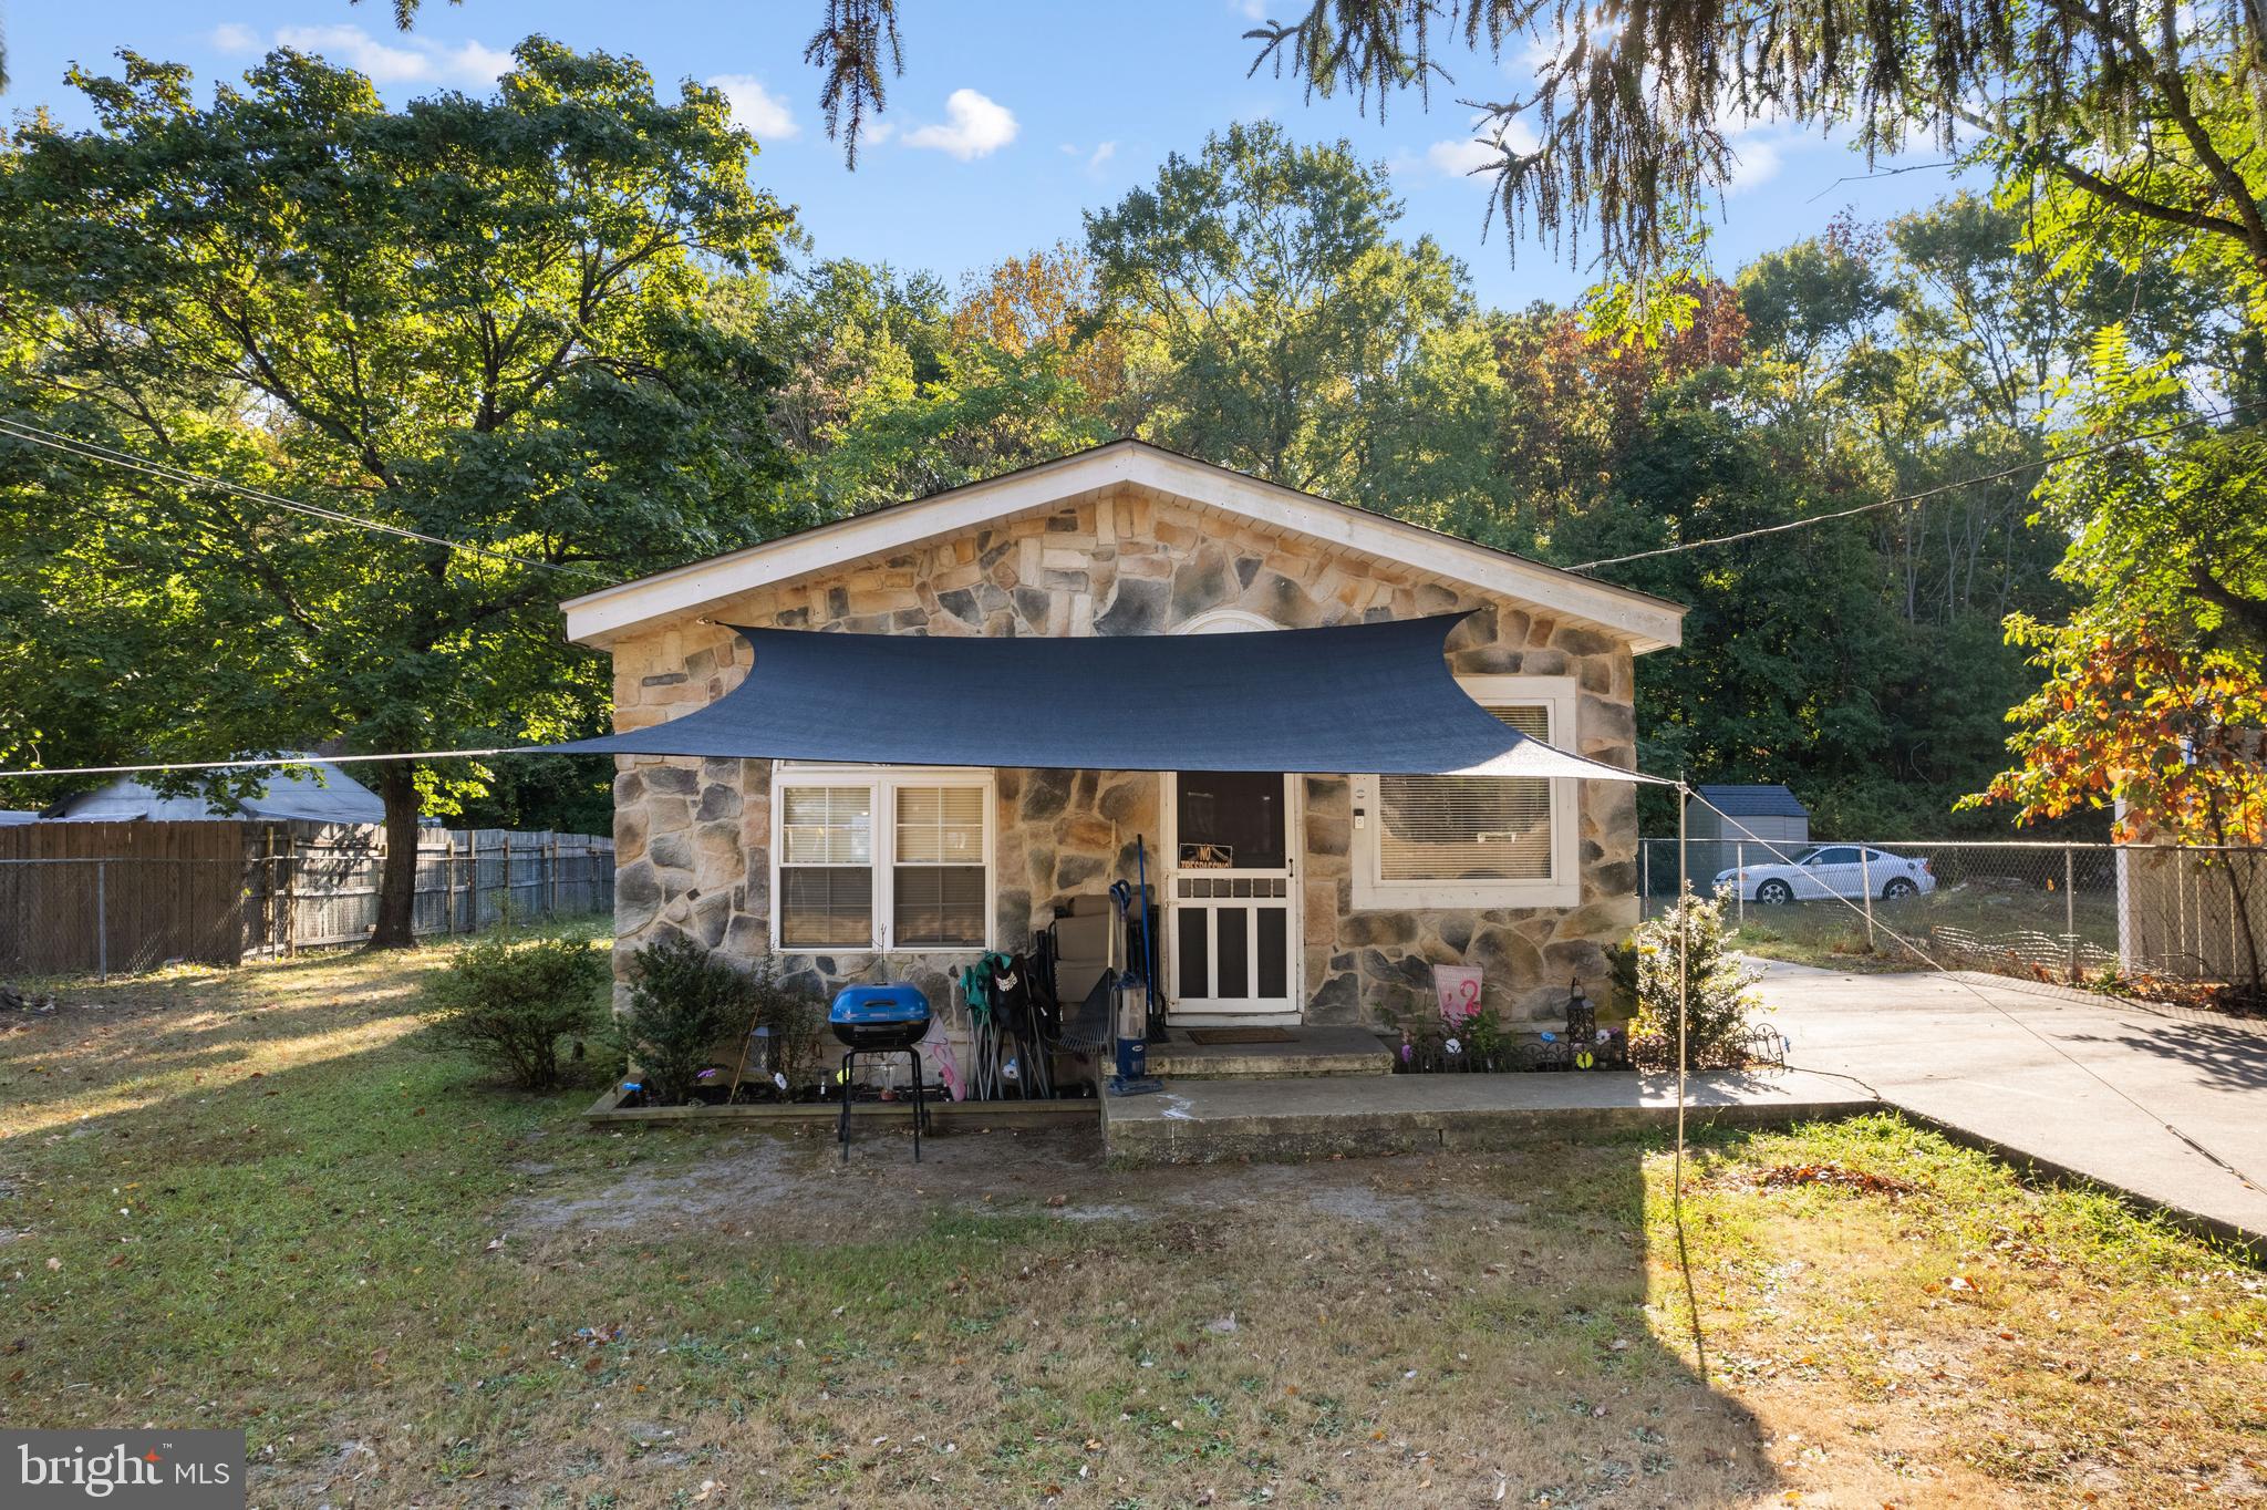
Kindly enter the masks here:
[[[1709, 1070], [1689, 1081], [1687, 1125], [1782, 1127], [1873, 1106], [1825, 1075]], [[1165, 1079], [1156, 1095], [1104, 1095], [1102, 1138], [1113, 1163], [1299, 1163], [1673, 1127], [1675, 1115], [1673, 1075], [1628, 1070]]]

